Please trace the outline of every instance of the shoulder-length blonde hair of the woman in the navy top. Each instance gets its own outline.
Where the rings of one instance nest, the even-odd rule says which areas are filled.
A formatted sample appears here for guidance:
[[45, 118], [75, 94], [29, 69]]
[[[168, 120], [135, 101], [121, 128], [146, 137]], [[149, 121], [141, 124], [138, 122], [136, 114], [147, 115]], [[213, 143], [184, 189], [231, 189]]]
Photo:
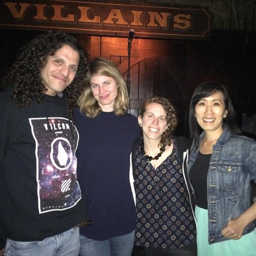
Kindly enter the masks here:
[[112, 77], [116, 81], [118, 93], [114, 102], [114, 112], [117, 116], [125, 114], [129, 105], [126, 83], [115, 64], [108, 59], [100, 57], [95, 58], [89, 66], [89, 72], [84, 80], [84, 89], [78, 99], [80, 111], [89, 117], [96, 117], [102, 112], [90, 86], [90, 79], [93, 75]]

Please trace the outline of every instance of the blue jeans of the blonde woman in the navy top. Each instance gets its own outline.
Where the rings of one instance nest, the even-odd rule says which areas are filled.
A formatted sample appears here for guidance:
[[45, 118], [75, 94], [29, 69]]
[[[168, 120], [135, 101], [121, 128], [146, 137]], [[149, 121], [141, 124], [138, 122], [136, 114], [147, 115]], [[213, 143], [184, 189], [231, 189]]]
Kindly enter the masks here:
[[130, 256], [134, 243], [132, 231], [127, 235], [113, 237], [104, 241], [89, 239], [80, 235], [79, 256]]

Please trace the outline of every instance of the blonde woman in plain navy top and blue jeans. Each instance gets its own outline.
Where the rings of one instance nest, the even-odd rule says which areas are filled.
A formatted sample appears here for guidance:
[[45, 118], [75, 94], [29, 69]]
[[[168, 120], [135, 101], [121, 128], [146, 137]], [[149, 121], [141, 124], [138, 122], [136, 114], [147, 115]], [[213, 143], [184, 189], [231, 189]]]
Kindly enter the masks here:
[[80, 110], [78, 181], [88, 199], [91, 226], [80, 228], [80, 256], [130, 256], [135, 206], [129, 184], [130, 153], [139, 136], [136, 118], [127, 113], [126, 84], [109, 60], [90, 64]]

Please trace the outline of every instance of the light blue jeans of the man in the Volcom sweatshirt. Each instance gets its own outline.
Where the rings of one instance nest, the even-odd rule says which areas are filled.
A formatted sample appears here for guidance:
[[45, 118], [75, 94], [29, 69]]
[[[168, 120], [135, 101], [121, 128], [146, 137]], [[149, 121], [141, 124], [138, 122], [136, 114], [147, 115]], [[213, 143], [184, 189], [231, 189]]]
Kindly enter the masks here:
[[18, 242], [7, 239], [5, 256], [78, 256], [79, 227], [42, 241]]

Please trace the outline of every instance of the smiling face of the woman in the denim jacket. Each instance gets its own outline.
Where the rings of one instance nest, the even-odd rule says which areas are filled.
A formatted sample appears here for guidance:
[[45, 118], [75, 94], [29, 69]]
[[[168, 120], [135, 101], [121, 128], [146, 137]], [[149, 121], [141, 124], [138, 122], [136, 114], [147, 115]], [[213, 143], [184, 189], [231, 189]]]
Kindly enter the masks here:
[[223, 119], [227, 115], [224, 96], [221, 92], [201, 98], [195, 105], [195, 116], [198, 125], [206, 132], [221, 134]]

